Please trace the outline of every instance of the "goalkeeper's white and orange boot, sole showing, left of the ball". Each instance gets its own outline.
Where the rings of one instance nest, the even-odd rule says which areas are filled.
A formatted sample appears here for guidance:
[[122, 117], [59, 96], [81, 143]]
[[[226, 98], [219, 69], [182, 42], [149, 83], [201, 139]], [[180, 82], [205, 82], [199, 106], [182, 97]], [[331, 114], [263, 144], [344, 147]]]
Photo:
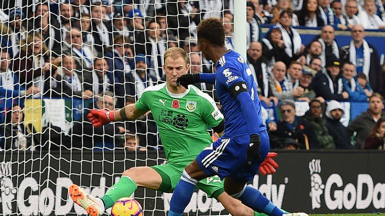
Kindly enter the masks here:
[[98, 204], [96, 198], [84, 191], [80, 186], [71, 184], [68, 189], [72, 200], [87, 211], [88, 215], [100, 216], [103, 213], [103, 208]]

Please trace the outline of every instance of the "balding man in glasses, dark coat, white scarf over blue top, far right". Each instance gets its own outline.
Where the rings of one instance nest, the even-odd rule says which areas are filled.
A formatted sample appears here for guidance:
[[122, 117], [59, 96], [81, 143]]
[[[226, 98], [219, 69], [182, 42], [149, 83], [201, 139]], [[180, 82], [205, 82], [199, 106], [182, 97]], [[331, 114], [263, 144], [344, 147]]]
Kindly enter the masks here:
[[363, 73], [369, 80], [374, 92], [383, 92], [383, 80], [377, 49], [368, 43], [362, 25], [355, 24], [351, 27], [352, 40], [341, 48], [341, 57], [355, 65], [355, 72]]

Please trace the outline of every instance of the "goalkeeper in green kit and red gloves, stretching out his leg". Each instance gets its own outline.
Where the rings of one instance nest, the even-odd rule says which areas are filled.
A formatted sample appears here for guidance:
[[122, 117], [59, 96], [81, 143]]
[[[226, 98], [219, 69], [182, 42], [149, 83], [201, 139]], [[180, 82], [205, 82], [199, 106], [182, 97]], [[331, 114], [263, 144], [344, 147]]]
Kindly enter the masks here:
[[[183, 168], [212, 143], [207, 125], [220, 133], [224, 130], [223, 115], [215, 101], [197, 87], [177, 86], [177, 78], [189, 69], [186, 52], [177, 47], [164, 53], [163, 69], [166, 83], [147, 87], [135, 104], [116, 111], [104, 109], [91, 110], [88, 118], [95, 127], [111, 121], [134, 120], [151, 110], [159, 129], [167, 164], [131, 167], [101, 198], [92, 197], [81, 187], [72, 184], [69, 188], [71, 198], [92, 216], [101, 215], [116, 200], [130, 196], [142, 186], [163, 192], [172, 192], [179, 181]], [[278, 167], [271, 158], [265, 160], [265, 170], [274, 172]], [[262, 170], [262, 172], [266, 173]], [[229, 196], [218, 176], [203, 179], [197, 186], [208, 196], [218, 199], [232, 215], [258, 215], [259, 213], [241, 201]], [[265, 214], [261, 214], [265, 215]]]

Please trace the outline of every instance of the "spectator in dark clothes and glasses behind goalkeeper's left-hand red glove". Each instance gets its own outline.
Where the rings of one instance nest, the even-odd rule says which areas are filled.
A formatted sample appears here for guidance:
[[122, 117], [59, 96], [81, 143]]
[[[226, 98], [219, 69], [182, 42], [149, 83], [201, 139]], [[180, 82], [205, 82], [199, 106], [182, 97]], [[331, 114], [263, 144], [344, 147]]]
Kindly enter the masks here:
[[[93, 108], [113, 110], [115, 107], [114, 94], [111, 91], [105, 92], [104, 95], [98, 95]], [[90, 109], [85, 109], [83, 118], [74, 121], [72, 128], [73, 137], [80, 138], [73, 144], [73, 147], [92, 148], [94, 146], [105, 150], [112, 150], [115, 146], [121, 145], [120, 139], [116, 139], [115, 135], [129, 132], [125, 129], [124, 123], [106, 124], [101, 127], [93, 127], [87, 115]]]

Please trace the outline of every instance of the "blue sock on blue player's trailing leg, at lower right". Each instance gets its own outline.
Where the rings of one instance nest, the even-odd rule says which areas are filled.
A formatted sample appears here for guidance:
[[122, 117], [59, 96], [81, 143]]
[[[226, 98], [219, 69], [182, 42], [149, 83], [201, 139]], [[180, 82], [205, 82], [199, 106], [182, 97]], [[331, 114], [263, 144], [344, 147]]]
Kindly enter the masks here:
[[238, 194], [232, 195], [253, 210], [263, 212], [270, 216], [282, 216], [283, 211], [254, 187], [246, 186]]

